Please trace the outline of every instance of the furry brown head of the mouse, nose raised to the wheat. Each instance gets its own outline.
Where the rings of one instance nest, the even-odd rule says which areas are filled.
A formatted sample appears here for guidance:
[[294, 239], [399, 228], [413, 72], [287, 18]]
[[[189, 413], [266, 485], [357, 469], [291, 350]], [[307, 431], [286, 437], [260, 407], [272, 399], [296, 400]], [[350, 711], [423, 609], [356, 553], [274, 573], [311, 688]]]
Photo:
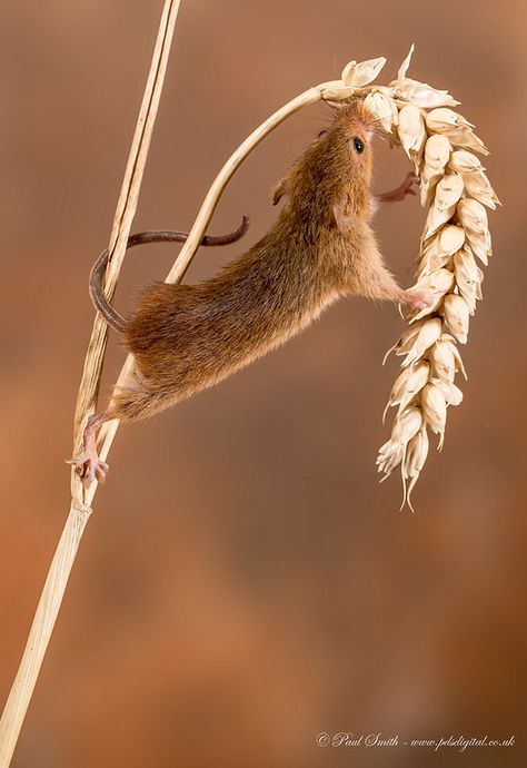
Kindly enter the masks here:
[[[348, 230], [369, 217], [375, 116], [355, 99], [338, 107], [334, 121], [295, 164], [289, 177], [291, 206]], [[320, 223], [322, 223], [320, 221]]]

